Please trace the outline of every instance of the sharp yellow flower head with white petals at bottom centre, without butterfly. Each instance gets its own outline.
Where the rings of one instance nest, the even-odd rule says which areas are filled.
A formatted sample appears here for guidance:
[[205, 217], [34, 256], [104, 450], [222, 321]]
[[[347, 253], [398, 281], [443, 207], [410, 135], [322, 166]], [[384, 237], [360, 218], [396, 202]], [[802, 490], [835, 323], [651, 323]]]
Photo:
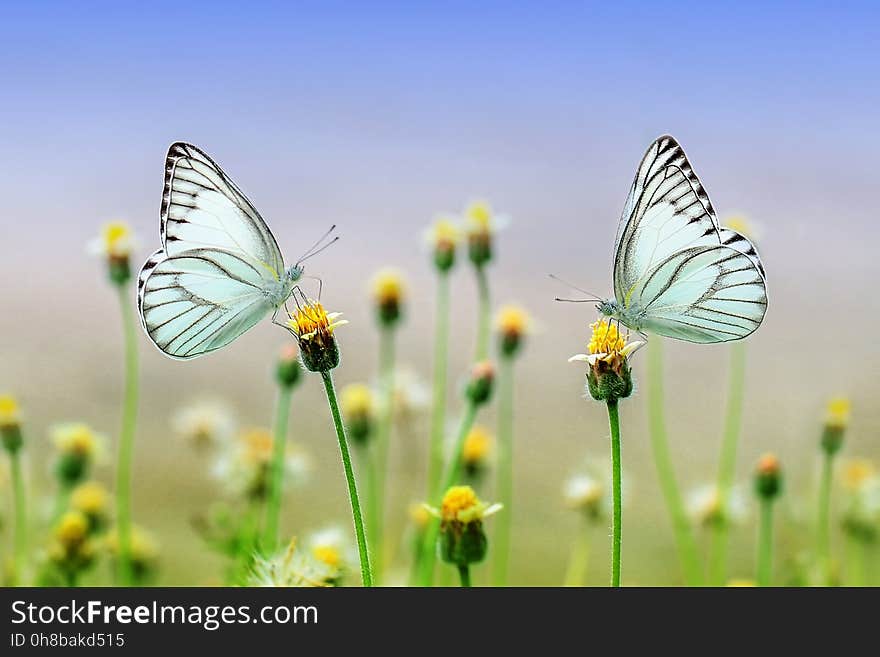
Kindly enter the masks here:
[[482, 561], [488, 550], [483, 519], [501, 510], [481, 501], [470, 486], [452, 486], [443, 496], [439, 511], [440, 554], [447, 563], [468, 566]]

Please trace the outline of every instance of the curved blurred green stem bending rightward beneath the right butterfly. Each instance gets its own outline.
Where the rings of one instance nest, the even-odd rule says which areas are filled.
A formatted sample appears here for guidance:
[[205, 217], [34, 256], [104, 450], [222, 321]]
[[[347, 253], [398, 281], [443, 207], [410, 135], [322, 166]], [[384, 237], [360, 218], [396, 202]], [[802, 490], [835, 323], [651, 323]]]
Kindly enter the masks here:
[[654, 464], [666, 508], [672, 518], [675, 544], [684, 571], [685, 584], [702, 585], [697, 543], [694, 540], [691, 524], [682, 503], [681, 493], [675, 479], [669, 445], [666, 439], [666, 421], [663, 414], [663, 343], [659, 338], [651, 341], [648, 347], [648, 414], [651, 434], [651, 449]]

